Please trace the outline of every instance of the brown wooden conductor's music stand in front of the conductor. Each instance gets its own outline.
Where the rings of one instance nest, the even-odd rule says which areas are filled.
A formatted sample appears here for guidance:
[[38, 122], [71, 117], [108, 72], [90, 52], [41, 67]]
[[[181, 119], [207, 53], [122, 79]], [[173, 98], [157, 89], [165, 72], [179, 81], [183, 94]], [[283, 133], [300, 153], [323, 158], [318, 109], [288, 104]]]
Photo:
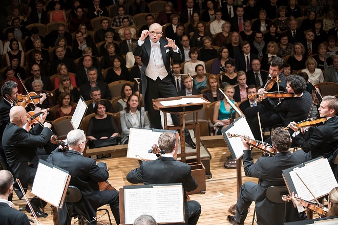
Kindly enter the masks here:
[[[182, 98], [200, 98], [205, 102], [203, 103], [184, 103], [184, 104], [176, 104], [170, 106], [164, 106], [161, 104], [163, 101], [172, 101], [172, 100], [181, 100]], [[179, 96], [179, 97], [171, 97], [171, 98], [159, 98], [153, 99], [153, 107], [155, 110], [161, 110], [164, 114], [164, 129], [168, 130], [180, 130], [180, 140], [181, 140], [181, 153], [177, 154], [178, 158], [181, 158], [183, 163], [188, 163], [192, 167], [192, 175], [195, 178], [198, 187], [196, 190], [187, 192], [188, 194], [197, 194], [197, 193], [205, 193], [206, 185], [205, 185], [205, 168], [201, 163], [201, 151], [200, 151], [200, 125], [198, 123], [198, 111], [203, 108], [204, 105], [210, 104], [210, 102], [203, 98], [202, 95], [192, 95], [192, 96]], [[166, 114], [179, 114], [180, 124], [177, 126], [168, 126], [166, 120]], [[185, 124], [185, 115], [187, 113], [193, 113], [195, 121], [192, 124]], [[185, 151], [185, 135], [184, 129], [195, 129], [195, 137], [196, 137], [196, 152]], [[196, 161], [187, 161], [188, 156], [196, 156]]]

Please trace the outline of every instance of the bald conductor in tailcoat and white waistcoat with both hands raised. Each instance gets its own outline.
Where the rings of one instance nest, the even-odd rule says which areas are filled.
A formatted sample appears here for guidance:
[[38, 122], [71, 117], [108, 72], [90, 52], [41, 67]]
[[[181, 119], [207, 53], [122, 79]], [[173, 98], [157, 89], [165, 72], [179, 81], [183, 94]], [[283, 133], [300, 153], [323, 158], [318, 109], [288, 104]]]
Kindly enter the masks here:
[[[192, 0], [188, 0], [192, 1]], [[149, 38], [147, 36], [150, 36]], [[162, 27], [155, 23], [150, 31], [142, 31], [138, 44], [133, 51], [142, 60], [142, 95], [145, 109], [149, 113], [152, 128], [162, 128], [159, 111], [153, 108], [153, 98], [177, 96], [173, 76], [171, 76], [170, 59], [180, 61], [181, 51], [172, 39], [161, 39]], [[174, 124], [179, 124], [178, 117], [172, 117]], [[185, 142], [196, 148], [189, 131], [185, 129]]]

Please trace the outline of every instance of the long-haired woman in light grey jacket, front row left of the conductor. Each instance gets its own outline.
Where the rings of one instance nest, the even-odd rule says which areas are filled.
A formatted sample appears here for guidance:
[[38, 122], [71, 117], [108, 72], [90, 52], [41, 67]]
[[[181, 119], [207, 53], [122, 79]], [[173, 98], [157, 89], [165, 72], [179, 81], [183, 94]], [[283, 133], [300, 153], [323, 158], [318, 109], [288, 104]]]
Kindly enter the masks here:
[[[142, 124], [140, 124], [140, 114]], [[144, 108], [142, 107], [140, 109], [138, 96], [135, 94], [129, 96], [128, 101], [126, 102], [125, 109], [120, 112], [120, 120], [122, 127], [121, 144], [128, 144], [130, 128], [150, 128], [149, 119], [144, 111]]]

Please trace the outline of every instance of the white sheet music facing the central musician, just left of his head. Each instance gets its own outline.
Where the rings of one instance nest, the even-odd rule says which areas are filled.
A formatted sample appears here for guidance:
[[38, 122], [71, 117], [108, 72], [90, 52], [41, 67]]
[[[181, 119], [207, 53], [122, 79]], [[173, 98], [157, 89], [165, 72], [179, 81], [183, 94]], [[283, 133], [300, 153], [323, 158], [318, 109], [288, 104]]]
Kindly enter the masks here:
[[130, 128], [127, 158], [156, 160], [157, 156], [148, 153], [154, 144], [158, 145], [158, 137], [162, 132], [153, 132], [151, 129]]

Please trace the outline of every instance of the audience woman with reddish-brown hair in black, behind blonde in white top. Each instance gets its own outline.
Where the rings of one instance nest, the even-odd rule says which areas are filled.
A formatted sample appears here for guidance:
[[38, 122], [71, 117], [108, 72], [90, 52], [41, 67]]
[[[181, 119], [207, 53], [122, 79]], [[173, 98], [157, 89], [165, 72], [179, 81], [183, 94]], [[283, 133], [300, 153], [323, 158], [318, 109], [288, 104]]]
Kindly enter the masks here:
[[287, 60], [293, 70], [302, 70], [306, 68], [305, 62], [307, 56], [305, 55], [305, 49], [302, 43], [295, 42], [291, 51], [291, 55]]

